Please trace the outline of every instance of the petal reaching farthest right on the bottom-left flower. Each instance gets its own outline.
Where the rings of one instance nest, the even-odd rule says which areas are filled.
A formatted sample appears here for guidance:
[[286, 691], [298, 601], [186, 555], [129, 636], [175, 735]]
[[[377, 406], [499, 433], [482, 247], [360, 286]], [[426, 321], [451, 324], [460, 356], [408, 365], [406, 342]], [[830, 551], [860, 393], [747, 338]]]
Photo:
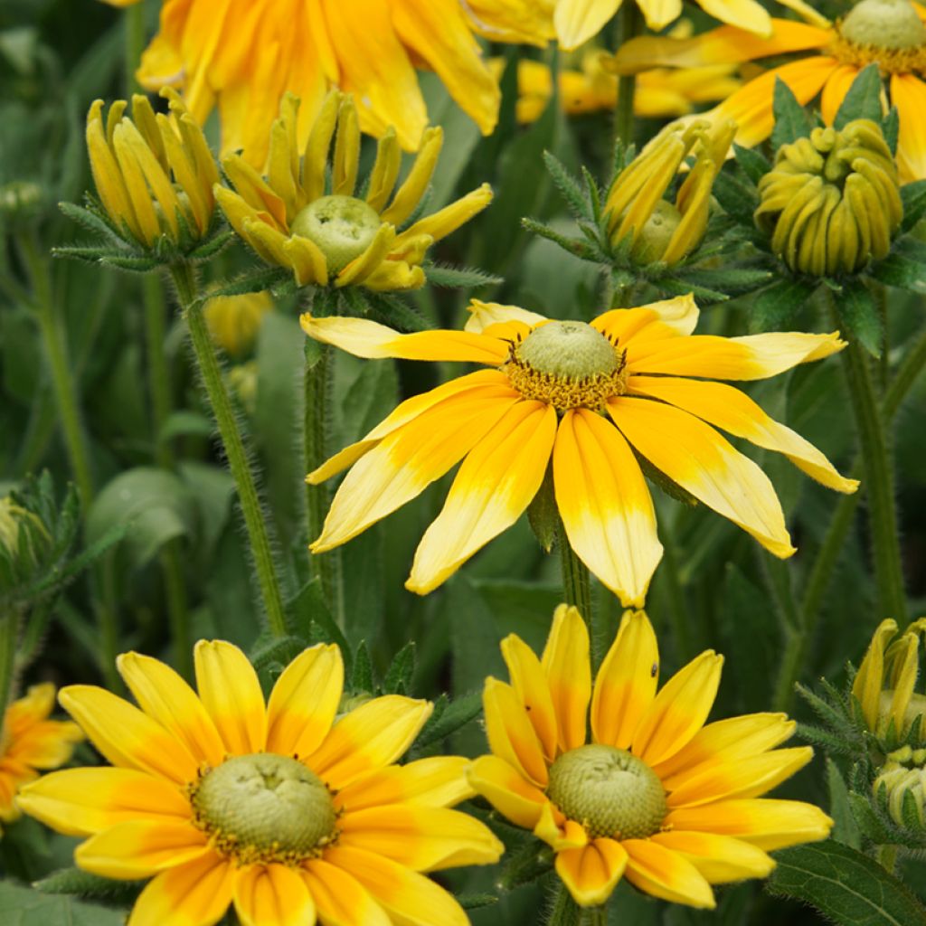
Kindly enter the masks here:
[[444, 807], [368, 807], [345, 813], [338, 826], [338, 845], [366, 849], [416, 871], [491, 864], [505, 849], [479, 820]]

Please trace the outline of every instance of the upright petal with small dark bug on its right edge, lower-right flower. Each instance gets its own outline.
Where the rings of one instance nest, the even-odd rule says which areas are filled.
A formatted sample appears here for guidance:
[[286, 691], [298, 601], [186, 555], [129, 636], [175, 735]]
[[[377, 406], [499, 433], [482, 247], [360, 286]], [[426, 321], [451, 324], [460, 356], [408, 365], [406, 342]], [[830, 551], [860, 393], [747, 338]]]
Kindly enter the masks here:
[[644, 611], [626, 611], [598, 669], [592, 695], [595, 743], [628, 749], [659, 682], [656, 633]]

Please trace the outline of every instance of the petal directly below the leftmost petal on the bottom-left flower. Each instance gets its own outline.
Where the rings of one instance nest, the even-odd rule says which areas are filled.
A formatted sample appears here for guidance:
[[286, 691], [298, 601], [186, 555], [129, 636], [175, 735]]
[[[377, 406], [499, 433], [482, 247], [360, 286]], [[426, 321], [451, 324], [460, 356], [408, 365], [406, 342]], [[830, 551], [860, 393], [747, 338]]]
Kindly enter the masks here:
[[148, 878], [200, 858], [216, 858], [191, 820], [128, 820], [92, 836], [74, 852], [85, 871], [104, 878]]

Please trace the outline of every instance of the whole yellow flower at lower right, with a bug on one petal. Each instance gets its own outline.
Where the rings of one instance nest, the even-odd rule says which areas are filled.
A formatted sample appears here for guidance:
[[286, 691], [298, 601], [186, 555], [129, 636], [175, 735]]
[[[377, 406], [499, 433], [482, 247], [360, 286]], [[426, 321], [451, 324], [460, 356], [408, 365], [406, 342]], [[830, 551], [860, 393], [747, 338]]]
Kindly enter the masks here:
[[538, 659], [502, 641], [511, 683], [489, 678], [482, 704], [492, 755], [472, 786], [556, 852], [576, 903], [603, 904], [622, 877], [646, 894], [714, 907], [711, 884], [762, 878], [771, 849], [826, 838], [818, 807], [762, 798], [813, 756], [776, 749], [784, 714], [705, 725], [723, 657], [694, 658], [657, 694], [659, 652], [643, 611], [628, 611], [592, 685], [588, 632], [557, 608]]

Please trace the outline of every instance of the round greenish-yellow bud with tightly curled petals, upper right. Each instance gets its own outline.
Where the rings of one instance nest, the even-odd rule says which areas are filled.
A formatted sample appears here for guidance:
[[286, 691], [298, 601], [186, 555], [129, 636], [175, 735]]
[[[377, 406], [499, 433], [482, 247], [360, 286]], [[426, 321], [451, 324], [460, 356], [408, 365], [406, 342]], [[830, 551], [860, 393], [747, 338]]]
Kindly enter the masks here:
[[881, 128], [855, 119], [783, 144], [758, 184], [756, 224], [796, 273], [856, 273], [886, 257], [904, 216]]

